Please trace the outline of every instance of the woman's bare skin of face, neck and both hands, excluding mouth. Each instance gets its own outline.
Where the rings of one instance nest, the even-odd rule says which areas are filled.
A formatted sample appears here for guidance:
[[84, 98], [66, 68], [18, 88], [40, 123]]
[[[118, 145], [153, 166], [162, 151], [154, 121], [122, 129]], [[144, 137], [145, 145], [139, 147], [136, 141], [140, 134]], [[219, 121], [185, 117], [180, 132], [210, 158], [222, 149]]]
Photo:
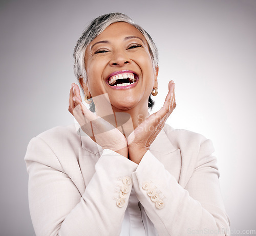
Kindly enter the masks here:
[[[174, 82], [168, 84], [163, 107], [148, 116], [148, 97], [158, 86], [158, 66], [154, 70], [144, 36], [126, 22], [113, 23], [89, 44], [85, 66], [88, 82], [85, 84], [80, 79], [80, 84], [84, 95], [89, 98], [101, 96], [101, 101], [95, 103], [97, 114], [82, 104], [79, 87], [75, 83], [71, 85], [69, 111], [83, 131], [102, 149], [111, 149], [139, 164], [176, 107]], [[113, 89], [106, 84], [110, 74], [120, 70], [135, 72], [139, 76], [136, 86]], [[105, 110], [108, 106], [102, 104], [108, 104], [108, 100], [102, 99], [102, 95], [108, 95], [113, 111]], [[105, 116], [113, 112], [113, 116]], [[131, 116], [132, 122], [127, 122], [129, 125], [117, 126], [120, 112]]]

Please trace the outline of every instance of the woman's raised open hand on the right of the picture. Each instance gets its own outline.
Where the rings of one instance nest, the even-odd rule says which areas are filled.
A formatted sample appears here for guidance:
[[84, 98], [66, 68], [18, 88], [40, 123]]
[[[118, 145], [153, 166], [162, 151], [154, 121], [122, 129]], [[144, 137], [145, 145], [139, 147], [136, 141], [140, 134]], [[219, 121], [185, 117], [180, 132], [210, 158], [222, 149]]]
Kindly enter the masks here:
[[143, 155], [150, 149], [152, 142], [162, 130], [165, 121], [176, 107], [175, 83], [169, 82], [169, 92], [165, 98], [163, 107], [148, 116], [137, 128], [127, 137], [129, 158], [139, 164]]

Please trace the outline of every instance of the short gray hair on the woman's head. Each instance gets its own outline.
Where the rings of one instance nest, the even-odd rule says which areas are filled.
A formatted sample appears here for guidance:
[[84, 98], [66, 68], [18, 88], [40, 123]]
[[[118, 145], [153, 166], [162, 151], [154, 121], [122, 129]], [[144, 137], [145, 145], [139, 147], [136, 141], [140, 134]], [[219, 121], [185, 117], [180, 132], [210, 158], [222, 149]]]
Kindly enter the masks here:
[[83, 31], [81, 37], [76, 43], [74, 49], [74, 73], [78, 80], [80, 78], [83, 78], [84, 82], [87, 82], [86, 68], [84, 64], [84, 54], [86, 52], [87, 46], [108, 26], [115, 22], [130, 23], [130, 25], [137, 28], [143, 34], [147, 41], [153, 68], [155, 69], [155, 67], [158, 65], [158, 50], [151, 36], [139, 25], [136, 25], [129, 16], [118, 12], [109, 13], [95, 18], [90, 23], [90, 25]]

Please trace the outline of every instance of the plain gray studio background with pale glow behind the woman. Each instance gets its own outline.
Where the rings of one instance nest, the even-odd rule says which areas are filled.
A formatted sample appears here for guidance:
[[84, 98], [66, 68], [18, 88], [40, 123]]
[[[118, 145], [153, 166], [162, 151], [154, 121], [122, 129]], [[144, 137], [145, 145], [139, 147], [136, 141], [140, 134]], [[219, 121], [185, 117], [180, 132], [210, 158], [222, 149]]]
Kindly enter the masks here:
[[212, 139], [231, 229], [241, 230], [232, 235], [256, 229], [256, 1], [24, 0], [0, 7], [1, 236], [35, 235], [27, 145], [40, 132], [74, 121], [68, 98], [76, 82], [75, 43], [93, 18], [116, 11], [132, 17], [158, 46], [154, 111], [173, 79], [177, 108], [168, 123]]

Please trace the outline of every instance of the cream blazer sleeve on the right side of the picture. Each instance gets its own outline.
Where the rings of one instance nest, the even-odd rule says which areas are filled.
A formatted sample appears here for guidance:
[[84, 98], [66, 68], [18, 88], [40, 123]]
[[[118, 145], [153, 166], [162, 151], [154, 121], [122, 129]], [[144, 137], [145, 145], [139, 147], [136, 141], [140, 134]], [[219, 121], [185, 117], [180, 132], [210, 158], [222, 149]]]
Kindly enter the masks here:
[[[213, 151], [209, 139], [201, 144], [194, 172], [185, 188], [150, 151], [143, 156], [132, 174], [134, 188], [160, 236], [230, 235]], [[159, 202], [149, 196], [154, 191]]]

